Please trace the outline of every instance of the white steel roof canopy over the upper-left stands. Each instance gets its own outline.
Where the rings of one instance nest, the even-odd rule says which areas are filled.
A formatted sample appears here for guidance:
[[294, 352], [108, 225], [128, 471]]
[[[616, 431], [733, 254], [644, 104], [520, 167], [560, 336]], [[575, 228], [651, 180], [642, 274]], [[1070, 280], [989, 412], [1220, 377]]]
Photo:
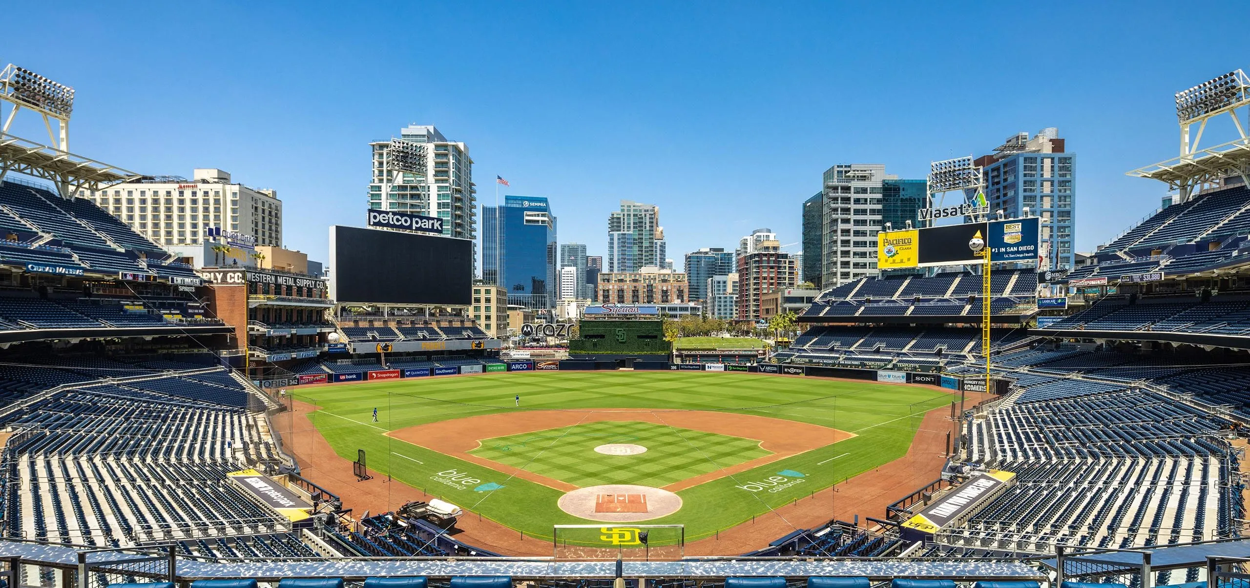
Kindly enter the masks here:
[[70, 197], [75, 190], [100, 190], [139, 176], [81, 155], [0, 134], [0, 179], [11, 171], [51, 181], [62, 197]]

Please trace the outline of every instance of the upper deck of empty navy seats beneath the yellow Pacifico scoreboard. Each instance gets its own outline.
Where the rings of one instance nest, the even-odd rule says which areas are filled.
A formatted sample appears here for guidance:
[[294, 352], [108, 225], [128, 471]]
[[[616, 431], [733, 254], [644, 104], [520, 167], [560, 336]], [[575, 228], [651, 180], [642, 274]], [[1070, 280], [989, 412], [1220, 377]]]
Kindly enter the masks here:
[[[990, 276], [990, 310], [1000, 320], [1032, 312], [1038, 290], [1034, 270], [1004, 270]], [[800, 316], [801, 322], [976, 322], [982, 278], [966, 272], [935, 276], [860, 278], [822, 292]], [[906, 318], [901, 318], [906, 317]], [[890, 321], [892, 320], [892, 321]]]

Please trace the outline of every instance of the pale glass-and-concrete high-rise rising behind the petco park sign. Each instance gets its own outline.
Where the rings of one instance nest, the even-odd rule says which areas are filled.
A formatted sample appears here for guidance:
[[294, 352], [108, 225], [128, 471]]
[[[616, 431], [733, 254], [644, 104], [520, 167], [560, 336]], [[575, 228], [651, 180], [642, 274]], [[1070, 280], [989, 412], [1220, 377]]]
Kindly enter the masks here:
[[[449, 141], [434, 125], [409, 125], [400, 139], [424, 145], [425, 174], [392, 171], [386, 162], [390, 140], [372, 141], [374, 175], [369, 184], [369, 207], [442, 218], [442, 235], [478, 236], [478, 190], [472, 182], [472, 157], [464, 142]], [[386, 194], [382, 194], [382, 186]]]

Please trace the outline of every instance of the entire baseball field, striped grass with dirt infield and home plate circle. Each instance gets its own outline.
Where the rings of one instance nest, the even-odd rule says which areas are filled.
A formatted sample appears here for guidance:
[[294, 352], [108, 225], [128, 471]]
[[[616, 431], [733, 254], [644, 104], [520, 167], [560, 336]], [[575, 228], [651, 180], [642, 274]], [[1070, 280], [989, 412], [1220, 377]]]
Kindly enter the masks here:
[[688, 541], [901, 457], [924, 413], [955, 398], [922, 386], [631, 371], [406, 378], [294, 396], [318, 408], [309, 419], [340, 457], [364, 449], [372, 476], [526, 536], [645, 521], [684, 524]]

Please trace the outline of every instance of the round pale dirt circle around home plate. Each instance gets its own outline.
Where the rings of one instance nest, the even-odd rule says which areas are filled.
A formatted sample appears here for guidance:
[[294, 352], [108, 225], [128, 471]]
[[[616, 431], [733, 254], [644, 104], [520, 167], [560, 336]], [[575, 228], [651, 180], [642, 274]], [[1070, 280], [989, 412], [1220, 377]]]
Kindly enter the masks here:
[[678, 512], [681, 508], [681, 497], [650, 486], [605, 484], [578, 488], [561, 496], [556, 504], [574, 517], [608, 523], [632, 523]]

